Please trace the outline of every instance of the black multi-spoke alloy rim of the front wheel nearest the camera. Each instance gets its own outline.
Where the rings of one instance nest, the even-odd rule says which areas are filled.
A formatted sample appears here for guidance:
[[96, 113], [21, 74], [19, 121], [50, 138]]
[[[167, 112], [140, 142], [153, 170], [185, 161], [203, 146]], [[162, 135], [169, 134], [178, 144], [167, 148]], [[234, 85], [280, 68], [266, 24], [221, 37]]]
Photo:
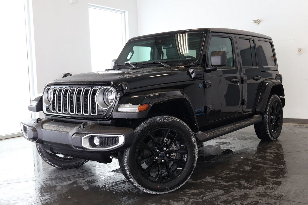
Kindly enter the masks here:
[[177, 131], [157, 128], [141, 140], [136, 152], [136, 163], [145, 178], [163, 183], [181, 173], [187, 155], [187, 144]]

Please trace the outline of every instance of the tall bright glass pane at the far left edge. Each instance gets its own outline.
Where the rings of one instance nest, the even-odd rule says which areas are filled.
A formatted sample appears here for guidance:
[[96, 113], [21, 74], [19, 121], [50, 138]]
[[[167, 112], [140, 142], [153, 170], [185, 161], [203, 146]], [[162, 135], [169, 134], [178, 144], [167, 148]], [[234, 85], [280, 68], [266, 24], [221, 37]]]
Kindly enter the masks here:
[[1, 3], [0, 136], [20, 133], [20, 121], [31, 117], [24, 1]]

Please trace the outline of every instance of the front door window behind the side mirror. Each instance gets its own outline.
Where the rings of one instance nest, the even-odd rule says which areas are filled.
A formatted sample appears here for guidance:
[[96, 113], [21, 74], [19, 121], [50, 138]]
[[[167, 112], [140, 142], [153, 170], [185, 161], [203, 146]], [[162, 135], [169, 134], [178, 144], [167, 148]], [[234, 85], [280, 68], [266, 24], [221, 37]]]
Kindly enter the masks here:
[[211, 52], [212, 51], [226, 51], [227, 52], [227, 66], [233, 67], [233, 50], [230, 38], [226, 37], [212, 37], [209, 45], [208, 64], [211, 64]]

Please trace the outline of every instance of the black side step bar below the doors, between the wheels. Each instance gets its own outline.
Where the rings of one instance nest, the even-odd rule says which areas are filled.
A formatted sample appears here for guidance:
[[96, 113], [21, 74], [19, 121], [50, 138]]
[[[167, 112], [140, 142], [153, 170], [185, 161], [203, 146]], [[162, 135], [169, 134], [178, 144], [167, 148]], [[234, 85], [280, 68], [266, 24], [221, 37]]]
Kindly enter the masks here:
[[261, 115], [254, 115], [251, 118], [241, 120], [238, 122], [234, 122], [231, 124], [227, 124], [218, 128], [210, 129], [204, 132], [199, 131], [196, 134], [196, 138], [199, 142], [205, 142], [208, 140], [212, 140], [216, 137], [220, 137], [223, 135], [226, 135], [230, 132], [237, 131], [241, 128], [248, 127], [250, 125], [256, 124], [258, 122], [262, 121], [262, 116]]

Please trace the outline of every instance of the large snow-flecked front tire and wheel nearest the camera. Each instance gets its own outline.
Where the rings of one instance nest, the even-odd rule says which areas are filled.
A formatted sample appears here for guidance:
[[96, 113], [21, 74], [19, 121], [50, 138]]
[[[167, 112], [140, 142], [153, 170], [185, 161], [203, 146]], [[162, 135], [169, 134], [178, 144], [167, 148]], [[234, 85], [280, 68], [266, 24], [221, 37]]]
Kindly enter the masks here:
[[[180, 138], [183, 140], [182, 142], [186, 143], [186, 150], [187, 150], [187, 154], [180, 154], [182, 155], [182, 157], [180, 157], [180, 159], [183, 159], [183, 156], [186, 155], [186, 164], [185, 165], [181, 165], [183, 166], [183, 168], [179, 168], [180, 166], [176, 166], [176, 171], [179, 169], [181, 170], [181, 172], [176, 176], [176, 178], [173, 178], [171, 176], [171, 174], [169, 174], [169, 171], [171, 170], [171, 165], [173, 162], [171, 162], [174, 159], [169, 159], [168, 161], [165, 160], [165, 164], [161, 164], [159, 165], [158, 162], [156, 162], [157, 166], [158, 166], [158, 170], [160, 170], [161, 173], [161, 178], [163, 178], [163, 171], [162, 171], [162, 167], [165, 168], [165, 176], [162, 179], [161, 183], [156, 183], [151, 181], [150, 179], [146, 178], [142, 172], [140, 171], [141, 165], [137, 163], [137, 158], [138, 158], [138, 150], [140, 150], [141, 148], [141, 143], [143, 142], [142, 140], [147, 139], [147, 136], [150, 135], [149, 133], [153, 133], [156, 132], [157, 130], [162, 130], [162, 129], [169, 129], [172, 130], [171, 132], [178, 132], [179, 136], [178, 137], [174, 137], [174, 139], [176, 138]], [[158, 131], [157, 131], [158, 132]], [[172, 144], [179, 144], [179, 142], [177, 141], [171, 141], [172, 136], [169, 132], [167, 132], [166, 136], [170, 136], [170, 139], [168, 137], [168, 143], [170, 146], [173, 146]], [[188, 127], [187, 124], [185, 124], [182, 120], [173, 117], [173, 116], [154, 116], [151, 117], [147, 120], [145, 120], [144, 122], [142, 122], [141, 124], [139, 124], [135, 129], [134, 129], [134, 140], [133, 140], [133, 144], [130, 148], [127, 148], [125, 150], [122, 150], [121, 152], [119, 152], [119, 164], [120, 164], [120, 168], [121, 171], [123, 173], [123, 175], [125, 176], [125, 178], [135, 187], [137, 187], [138, 189], [140, 189], [141, 191], [144, 191], [146, 193], [150, 193], [150, 194], [163, 194], [163, 193], [168, 193], [171, 191], [174, 191], [178, 188], [180, 188], [184, 183], [186, 183], [186, 181], [189, 179], [189, 177], [191, 176], [191, 174], [193, 173], [193, 170], [196, 166], [197, 163], [197, 155], [198, 155], [198, 150], [197, 150], [197, 142], [196, 142], [196, 138], [192, 132], [192, 130]], [[177, 136], [173, 135], [173, 136]], [[164, 137], [161, 137], [164, 138]], [[165, 137], [166, 139], [167, 137]], [[158, 138], [155, 138], [158, 139]], [[160, 143], [162, 144], [162, 146], [164, 146], [164, 144], [167, 144], [167, 140], [163, 140]], [[166, 143], [164, 143], [166, 142]], [[174, 142], [174, 143], [173, 143]], [[165, 145], [165, 146], [169, 146], [169, 145]], [[157, 147], [157, 146], [156, 146]], [[183, 145], [181, 144], [180, 147], [183, 147]], [[142, 148], [143, 151], [146, 150], [145, 148]], [[160, 149], [163, 149], [162, 147], [160, 147]], [[172, 150], [173, 148], [169, 147], [166, 151], [166, 153], [168, 152], [168, 150]], [[183, 149], [178, 149], [178, 151], [183, 150]], [[182, 151], [183, 152], [183, 151]], [[157, 152], [158, 153], [158, 152]], [[171, 151], [170, 151], [171, 153]], [[153, 155], [155, 155], [155, 153], [153, 153]], [[172, 154], [170, 154], [171, 156]], [[177, 155], [177, 154], [176, 154]], [[165, 156], [168, 156], [167, 154]], [[174, 156], [174, 154], [173, 154]], [[152, 156], [150, 156], [152, 157]], [[159, 155], [159, 157], [161, 157]], [[158, 157], [158, 158], [159, 158]], [[140, 159], [139, 159], [140, 160]], [[150, 159], [150, 163], [152, 162], [152, 158]], [[160, 163], [162, 162], [162, 158], [158, 159], [161, 160]], [[153, 164], [155, 163], [152, 162]], [[168, 164], [170, 163], [170, 164]], [[169, 167], [170, 165], [170, 167]], [[172, 164], [173, 165], [177, 165], [177, 164]], [[167, 170], [167, 166], [168, 169]], [[149, 166], [150, 167], [150, 166]], [[148, 168], [149, 168], [148, 167]], [[160, 169], [159, 169], [160, 167]], [[172, 167], [174, 169], [174, 167]], [[150, 168], [151, 169], [151, 168]], [[175, 173], [176, 171], [172, 172]], [[150, 171], [149, 171], [150, 173]], [[159, 171], [157, 172], [158, 176], [159, 176]], [[166, 177], [168, 173], [168, 178]], [[152, 177], [152, 176], [151, 176]], [[164, 182], [164, 180], [167, 179], [170, 181], [168, 182]]]

